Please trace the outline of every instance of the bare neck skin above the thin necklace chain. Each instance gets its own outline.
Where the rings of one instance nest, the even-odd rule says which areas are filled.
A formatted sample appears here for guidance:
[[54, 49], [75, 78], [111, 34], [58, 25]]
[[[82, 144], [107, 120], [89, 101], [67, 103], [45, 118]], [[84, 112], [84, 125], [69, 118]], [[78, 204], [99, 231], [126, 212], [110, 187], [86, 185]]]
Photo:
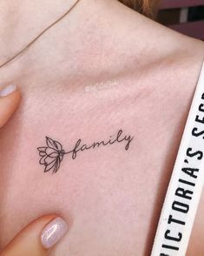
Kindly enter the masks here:
[[76, 0], [1, 1], [0, 49], [3, 51], [0, 51], [0, 64], [21, 51], [75, 3]]

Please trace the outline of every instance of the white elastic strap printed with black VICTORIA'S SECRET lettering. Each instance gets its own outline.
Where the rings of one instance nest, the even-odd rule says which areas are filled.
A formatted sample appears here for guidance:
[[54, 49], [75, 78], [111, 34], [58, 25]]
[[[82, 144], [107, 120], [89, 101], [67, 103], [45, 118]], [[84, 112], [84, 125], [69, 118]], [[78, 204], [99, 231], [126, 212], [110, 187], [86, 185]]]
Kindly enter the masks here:
[[204, 63], [155, 234], [151, 256], [184, 256], [204, 181]]

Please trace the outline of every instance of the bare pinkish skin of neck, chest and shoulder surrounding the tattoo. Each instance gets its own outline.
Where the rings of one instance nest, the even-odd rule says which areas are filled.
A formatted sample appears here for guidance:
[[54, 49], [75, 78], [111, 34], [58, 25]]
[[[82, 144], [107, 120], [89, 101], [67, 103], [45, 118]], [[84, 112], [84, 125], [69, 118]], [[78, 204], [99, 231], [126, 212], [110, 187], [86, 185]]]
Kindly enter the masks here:
[[[72, 3], [1, 1], [0, 61]], [[149, 255], [203, 56], [203, 42], [122, 3], [81, 0], [3, 67], [1, 84], [19, 84], [23, 101], [0, 132], [0, 248], [33, 219], [56, 213], [69, 232], [52, 256]], [[45, 136], [75, 145], [120, 129], [134, 136], [128, 151], [89, 150], [55, 175], [38, 163]], [[200, 240], [201, 221], [193, 232]], [[194, 246], [203, 255], [191, 241], [188, 255]]]

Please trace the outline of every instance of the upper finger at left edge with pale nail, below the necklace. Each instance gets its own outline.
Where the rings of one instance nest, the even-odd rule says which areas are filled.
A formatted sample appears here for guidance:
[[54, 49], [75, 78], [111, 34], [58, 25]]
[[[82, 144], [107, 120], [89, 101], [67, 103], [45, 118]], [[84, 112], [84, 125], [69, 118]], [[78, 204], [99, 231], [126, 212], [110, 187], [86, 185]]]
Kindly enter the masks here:
[[20, 91], [15, 84], [10, 84], [0, 91], [0, 128], [6, 124], [16, 111], [20, 98]]

